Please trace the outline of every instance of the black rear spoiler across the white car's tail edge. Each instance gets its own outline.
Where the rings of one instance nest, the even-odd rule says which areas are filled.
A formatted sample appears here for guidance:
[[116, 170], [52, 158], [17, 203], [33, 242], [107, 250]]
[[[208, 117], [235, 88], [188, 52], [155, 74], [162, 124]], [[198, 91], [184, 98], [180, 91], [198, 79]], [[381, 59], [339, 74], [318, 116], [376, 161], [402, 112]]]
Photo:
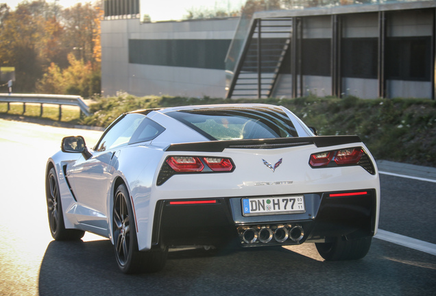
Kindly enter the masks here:
[[222, 152], [230, 149], [277, 149], [284, 147], [297, 147], [316, 145], [329, 147], [351, 143], [361, 143], [359, 136], [313, 136], [302, 138], [269, 138], [253, 140], [215, 140], [196, 143], [171, 144], [165, 151], [197, 151], [197, 152]]

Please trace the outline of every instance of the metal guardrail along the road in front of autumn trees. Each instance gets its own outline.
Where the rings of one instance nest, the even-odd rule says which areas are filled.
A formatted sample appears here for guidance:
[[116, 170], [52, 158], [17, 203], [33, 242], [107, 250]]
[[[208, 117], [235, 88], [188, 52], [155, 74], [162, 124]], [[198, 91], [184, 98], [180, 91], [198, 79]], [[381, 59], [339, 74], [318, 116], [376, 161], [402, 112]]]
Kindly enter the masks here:
[[86, 116], [90, 115], [89, 107], [83, 101], [83, 98], [75, 95], [21, 95], [21, 94], [0, 94], [0, 102], [8, 103], [8, 111], [10, 110], [9, 103], [23, 103], [23, 113], [25, 112], [26, 103], [39, 103], [40, 116], [43, 115], [43, 104], [59, 105], [59, 120], [62, 117], [62, 105], [77, 106], [80, 112]]

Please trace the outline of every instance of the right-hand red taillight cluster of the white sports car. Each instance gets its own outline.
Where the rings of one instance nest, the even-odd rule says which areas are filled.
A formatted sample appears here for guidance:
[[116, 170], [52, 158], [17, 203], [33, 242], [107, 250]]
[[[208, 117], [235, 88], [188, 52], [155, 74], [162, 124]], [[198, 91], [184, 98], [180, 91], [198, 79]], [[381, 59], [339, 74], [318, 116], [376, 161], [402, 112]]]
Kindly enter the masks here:
[[374, 164], [372, 164], [372, 161], [362, 147], [313, 153], [309, 159], [309, 164], [314, 169], [322, 167], [359, 165], [368, 171], [368, 173], [372, 175], [375, 174]]

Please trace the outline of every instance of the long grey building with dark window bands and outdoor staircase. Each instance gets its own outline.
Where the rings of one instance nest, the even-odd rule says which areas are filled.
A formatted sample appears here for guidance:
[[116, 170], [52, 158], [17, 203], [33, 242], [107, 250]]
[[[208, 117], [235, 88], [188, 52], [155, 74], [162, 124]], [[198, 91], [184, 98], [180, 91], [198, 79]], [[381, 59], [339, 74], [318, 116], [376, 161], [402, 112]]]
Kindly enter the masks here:
[[106, 6], [104, 95], [435, 99], [435, 1], [158, 23]]

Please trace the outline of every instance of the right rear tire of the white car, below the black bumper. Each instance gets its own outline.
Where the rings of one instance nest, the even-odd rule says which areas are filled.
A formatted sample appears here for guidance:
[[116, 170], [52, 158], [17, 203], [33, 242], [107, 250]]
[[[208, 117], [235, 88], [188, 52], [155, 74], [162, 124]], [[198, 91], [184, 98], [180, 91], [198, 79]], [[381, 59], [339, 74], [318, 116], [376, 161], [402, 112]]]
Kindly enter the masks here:
[[328, 261], [358, 260], [366, 256], [372, 237], [343, 240], [335, 238], [332, 243], [315, 243], [319, 255]]

